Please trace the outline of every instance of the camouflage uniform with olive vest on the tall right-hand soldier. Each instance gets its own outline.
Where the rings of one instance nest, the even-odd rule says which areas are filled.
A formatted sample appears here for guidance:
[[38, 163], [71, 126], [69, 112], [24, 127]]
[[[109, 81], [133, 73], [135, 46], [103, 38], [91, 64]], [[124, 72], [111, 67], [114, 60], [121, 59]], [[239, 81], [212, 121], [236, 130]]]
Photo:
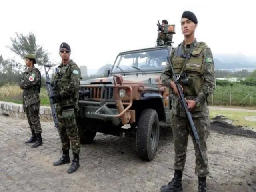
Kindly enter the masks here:
[[[186, 64], [184, 58], [185, 55], [191, 56]], [[173, 76], [169, 65], [170, 64], [166, 65], [166, 68], [161, 75], [162, 84], [167, 87], [170, 87], [170, 82], [172, 81]], [[206, 164], [202, 162], [198, 148], [194, 142], [194, 149], [196, 151], [195, 174], [199, 177], [205, 177], [209, 175], [206, 153], [206, 140], [210, 133], [207, 99], [213, 94], [216, 85], [212, 52], [203, 42], [197, 42], [195, 40], [192, 44], [186, 46], [181, 43], [175, 48], [174, 52], [172, 52], [172, 65], [175, 74], [181, 75], [179, 79], [180, 84], [182, 79], [189, 79], [188, 84], [182, 85], [185, 98], [187, 100], [197, 101], [195, 108], [191, 110], [191, 115], [198, 132], [202, 155]], [[183, 171], [186, 162], [188, 134], [192, 135], [192, 131], [188, 126], [185, 112], [180, 106], [179, 96], [176, 94], [174, 94], [172, 101], [172, 114], [172, 130], [175, 149], [174, 168]]]

